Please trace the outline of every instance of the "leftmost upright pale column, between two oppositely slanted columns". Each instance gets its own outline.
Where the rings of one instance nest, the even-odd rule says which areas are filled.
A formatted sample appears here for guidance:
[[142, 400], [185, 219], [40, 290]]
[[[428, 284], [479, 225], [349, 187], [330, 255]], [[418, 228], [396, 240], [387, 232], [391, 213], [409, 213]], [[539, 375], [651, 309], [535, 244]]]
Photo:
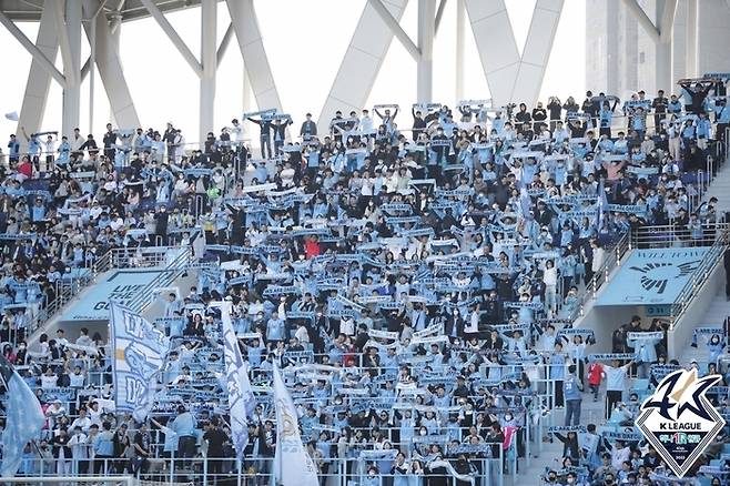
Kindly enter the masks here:
[[[55, 0], [63, 1], [63, 0]], [[59, 32], [59, 39], [68, 37], [69, 45], [69, 65], [63, 63], [63, 75], [67, 80], [67, 87], [63, 90], [63, 114], [62, 129], [63, 134], [71, 136], [73, 129], [79, 126], [81, 118], [81, 2], [65, 2], [65, 31]], [[59, 19], [61, 20], [61, 19]], [[63, 23], [63, 22], [61, 22]], [[61, 40], [61, 43], [64, 41]], [[91, 128], [89, 129], [91, 130]], [[89, 130], [82, 130], [84, 135]]]

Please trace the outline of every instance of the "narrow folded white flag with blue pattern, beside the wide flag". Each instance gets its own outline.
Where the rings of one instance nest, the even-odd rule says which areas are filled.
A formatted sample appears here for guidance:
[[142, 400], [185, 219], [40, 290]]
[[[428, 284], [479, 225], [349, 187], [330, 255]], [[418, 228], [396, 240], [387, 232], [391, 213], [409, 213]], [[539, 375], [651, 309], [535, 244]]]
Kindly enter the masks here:
[[239, 338], [231, 323], [231, 303], [213, 303], [211, 306], [221, 308], [225, 375], [229, 389], [229, 407], [231, 409], [231, 436], [236, 456], [241, 459], [243, 450], [249, 444], [247, 417], [253, 413], [256, 403], [249, 381], [249, 366], [241, 357]]

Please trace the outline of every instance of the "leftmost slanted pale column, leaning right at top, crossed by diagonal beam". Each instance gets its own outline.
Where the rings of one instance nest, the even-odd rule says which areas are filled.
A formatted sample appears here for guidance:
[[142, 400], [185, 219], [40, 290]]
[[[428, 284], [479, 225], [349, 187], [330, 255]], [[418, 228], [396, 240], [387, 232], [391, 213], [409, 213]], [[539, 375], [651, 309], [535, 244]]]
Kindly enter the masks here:
[[[55, 29], [55, 9], [52, 4], [45, 4], [43, 7], [36, 47], [47, 59], [55, 59], [58, 54], [59, 40]], [[18, 129], [16, 130], [18, 135], [20, 135], [21, 126], [26, 126], [28, 133], [37, 132], [41, 129], [50, 89], [51, 74], [33, 58], [30, 64], [30, 71], [28, 72], [23, 104], [20, 109], [20, 119], [18, 120]], [[18, 140], [22, 140], [22, 143], [24, 143], [22, 136], [18, 136]]]

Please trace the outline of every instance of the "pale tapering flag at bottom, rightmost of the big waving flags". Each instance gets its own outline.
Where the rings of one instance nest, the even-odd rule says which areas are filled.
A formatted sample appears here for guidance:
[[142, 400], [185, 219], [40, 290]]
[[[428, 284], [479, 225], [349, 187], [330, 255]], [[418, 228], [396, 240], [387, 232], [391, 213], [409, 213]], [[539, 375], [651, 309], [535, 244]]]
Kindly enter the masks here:
[[317, 472], [302, 444], [300, 421], [278, 365], [274, 362], [274, 404], [276, 406], [276, 454], [274, 477], [282, 486], [320, 486]]

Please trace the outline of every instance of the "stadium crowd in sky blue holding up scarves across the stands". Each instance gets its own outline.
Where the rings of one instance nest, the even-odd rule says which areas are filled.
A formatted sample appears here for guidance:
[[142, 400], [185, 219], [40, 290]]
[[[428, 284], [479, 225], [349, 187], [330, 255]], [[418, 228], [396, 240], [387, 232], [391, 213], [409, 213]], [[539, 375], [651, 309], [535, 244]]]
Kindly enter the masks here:
[[[254, 482], [271, 473], [277, 361], [323, 484], [475, 474], [496, 484], [498, 466], [524, 467], [544, 436], [565, 446], [546, 484], [677, 484], [633, 427], [649, 385], [680, 366], [665, 324], [635, 317], [597, 354], [572, 322], [629, 230], [675, 224], [687, 244], [711, 244], [723, 216], [714, 200], [699, 203], [698, 170], [724, 156], [723, 89], [683, 82], [682, 101], [588, 92], [533, 110], [430, 103], [410, 117], [378, 105], [337, 112], [324, 131], [307, 114], [297, 142], [290, 117], [264, 111], [246, 117], [262, 159], [237, 120], [192, 151], [172, 123], [162, 133], [110, 124], [101, 144], [23, 129], [22, 152], [11, 135], [0, 341], [48, 417], [19, 474], [151, 475], [171, 457], [184, 479], [202, 455], [209, 474], [235, 472], [220, 312], [209, 305], [230, 300], [257, 397], [243, 464]], [[28, 342], [59, 285], [104, 252], [190, 246], [196, 234], [196, 284], [160, 295], [155, 324], [173, 344], [149, 423], [114, 413], [101, 335]], [[697, 345], [710, 363], [681, 365], [727, 373], [726, 341], [706, 328]], [[585, 399], [604, 402], [605, 421], [581, 419]], [[730, 401], [716, 404], [724, 413]], [[693, 470], [720, 459], [724, 437]], [[727, 484], [712, 464], [711, 484]]]

